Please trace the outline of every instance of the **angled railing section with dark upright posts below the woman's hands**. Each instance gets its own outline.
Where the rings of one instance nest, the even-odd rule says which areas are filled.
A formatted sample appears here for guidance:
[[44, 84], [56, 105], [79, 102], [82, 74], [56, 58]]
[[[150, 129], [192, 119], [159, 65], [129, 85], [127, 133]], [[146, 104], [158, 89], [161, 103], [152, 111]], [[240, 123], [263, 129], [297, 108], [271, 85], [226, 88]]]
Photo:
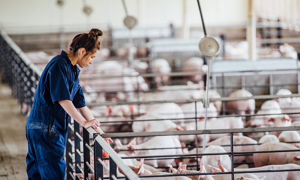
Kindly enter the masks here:
[[[92, 128], [82, 128], [83, 137], [81, 137], [80, 128], [82, 127], [76, 121], [74, 121], [73, 126], [69, 124], [66, 144], [67, 180], [80, 180], [73, 173], [81, 173], [85, 179], [88, 179], [88, 173], [91, 172], [94, 174], [95, 179], [105, 179], [104, 169], [109, 172], [110, 179], [116, 179], [117, 166], [123, 170], [126, 179], [138, 179], [137, 175], [124, 164], [118, 154], [105, 142], [101, 134], [96, 133]], [[90, 137], [93, 137], [92, 143]], [[81, 146], [81, 142], [83, 146]], [[109, 167], [103, 161], [102, 150], [109, 155]], [[94, 155], [94, 166], [90, 162], [90, 154]], [[83, 168], [82, 163], [84, 164]]]

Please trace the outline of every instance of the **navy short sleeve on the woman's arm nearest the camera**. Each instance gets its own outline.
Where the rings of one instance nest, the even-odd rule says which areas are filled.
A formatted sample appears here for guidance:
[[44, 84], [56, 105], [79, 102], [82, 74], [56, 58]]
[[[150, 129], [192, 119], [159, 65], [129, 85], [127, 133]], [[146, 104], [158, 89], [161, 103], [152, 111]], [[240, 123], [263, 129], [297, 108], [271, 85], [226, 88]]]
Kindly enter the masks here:
[[69, 91], [69, 80], [67, 79], [67, 69], [63, 64], [55, 62], [46, 74], [45, 86], [50, 92], [52, 102], [71, 100]]

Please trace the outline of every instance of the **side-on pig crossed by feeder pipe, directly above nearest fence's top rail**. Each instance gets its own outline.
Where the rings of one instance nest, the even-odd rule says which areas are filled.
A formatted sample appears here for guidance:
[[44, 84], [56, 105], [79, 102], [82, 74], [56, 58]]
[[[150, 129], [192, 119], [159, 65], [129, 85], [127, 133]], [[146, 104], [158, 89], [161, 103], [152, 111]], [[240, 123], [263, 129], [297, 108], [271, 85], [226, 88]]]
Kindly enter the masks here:
[[[204, 119], [197, 122], [197, 129], [204, 129], [205, 121]], [[244, 123], [242, 121], [242, 117], [222, 117], [222, 118], [214, 118], [208, 120], [206, 122], [206, 129], [233, 129], [233, 128], [244, 128]], [[186, 123], [183, 127], [184, 130], [196, 130], [195, 122]], [[208, 139], [215, 140], [219, 137], [223, 137], [229, 134], [206, 134], [206, 137], [209, 136]], [[237, 133], [234, 135], [242, 135], [241, 133]], [[199, 143], [203, 142], [203, 134], [198, 134]], [[195, 139], [194, 135], [181, 135], [179, 136], [179, 140], [181, 141], [193, 141]]]

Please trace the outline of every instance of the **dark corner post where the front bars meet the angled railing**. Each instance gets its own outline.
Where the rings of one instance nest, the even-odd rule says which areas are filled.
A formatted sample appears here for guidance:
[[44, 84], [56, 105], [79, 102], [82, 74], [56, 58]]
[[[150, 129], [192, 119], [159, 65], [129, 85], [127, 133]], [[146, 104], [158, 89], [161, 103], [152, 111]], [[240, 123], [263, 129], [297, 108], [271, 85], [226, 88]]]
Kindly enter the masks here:
[[103, 161], [103, 152], [102, 152], [102, 146], [95, 140], [95, 134], [93, 135], [93, 141], [94, 144], [94, 172], [95, 172], [95, 179], [103, 179], [103, 166], [98, 161], [100, 158]]

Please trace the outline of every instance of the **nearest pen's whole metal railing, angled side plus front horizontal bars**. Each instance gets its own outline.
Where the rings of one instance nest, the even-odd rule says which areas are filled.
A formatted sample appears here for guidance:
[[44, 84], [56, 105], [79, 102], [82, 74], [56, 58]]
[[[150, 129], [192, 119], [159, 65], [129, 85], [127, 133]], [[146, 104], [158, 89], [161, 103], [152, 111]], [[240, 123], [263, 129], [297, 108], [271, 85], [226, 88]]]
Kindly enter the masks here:
[[[190, 131], [159, 131], [159, 132], [135, 132], [135, 133], [107, 133], [107, 134], [96, 134], [92, 128], [82, 128], [83, 138], [80, 137], [79, 133], [79, 124], [74, 122], [74, 144], [69, 139], [72, 134], [72, 126], [69, 125], [68, 133], [68, 143], [67, 148], [70, 149], [71, 146], [74, 146], [73, 152], [75, 153], [75, 159], [72, 158], [72, 152], [68, 152], [67, 164], [69, 165], [67, 179], [77, 179], [78, 177], [73, 177], [72, 172], [84, 174], [85, 179], [88, 177], [89, 171], [95, 173], [95, 179], [138, 179], [144, 177], [168, 177], [168, 176], [197, 176], [197, 175], [217, 175], [217, 174], [231, 174], [232, 180], [234, 179], [234, 174], [238, 173], [263, 173], [263, 172], [283, 172], [283, 171], [300, 171], [300, 169], [284, 169], [284, 170], [255, 170], [255, 171], [234, 171], [234, 157], [238, 155], [249, 155], [254, 153], [274, 153], [274, 152], [300, 152], [300, 149], [291, 149], [291, 150], [268, 150], [268, 151], [244, 151], [244, 152], [234, 152], [233, 145], [233, 133], [249, 133], [249, 132], [271, 132], [271, 131], [299, 131], [299, 126], [294, 127], [271, 127], [271, 128], [240, 128], [240, 129], [216, 129], [216, 130], [190, 130]], [[168, 159], [168, 158], [193, 158], [201, 157], [205, 155], [229, 155], [231, 158], [231, 171], [224, 173], [189, 173], [189, 174], [160, 174], [160, 175], [147, 175], [147, 176], [137, 176], [127, 165], [125, 165], [121, 158], [116, 154], [116, 152], [102, 139], [102, 138], [125, 138], [125, 137], [149, 137], [149, 136], [173, 136], [173, 135], [199, 135], [199, 134], [224, 134], [230, 133], [230, 152], [226, 153], [196, 153], [196, 154], [179, 154], [179, 155], [156, 155], [156, 156], [131, 156], [131, 157], [122, 157], [122, 159]], [[90, 135], [93, 135], [93, 143], [90, 143]], [[83, 155], [80, 152], [80, 139], [83, 141]], [[91, 149], [91, 145], [94, 146], [94, 150]], [[104, 149], [109, 155], [109, 158], [103, 158], [102, 149]], [[138, 150], [138, 149], [136, 149]], [[139, 149], [140, 150], [140, 149]], [[90, 152], [94, 154], [94, 170], [90, 165]], [[110, 177], [103, 177], [103, 168], [105, 164], [103, 160], [110, 160]], [[80, 164], [84, 163], [84, 169], [80, 168]], [[71, 163], [72, 162], [72, 163]], [[75, 164], [75, 169], [72, 168]], [[117, 166], [123, 170], [125, 173], [124, 176], [117, 177]], [[125, 170], [125, 171], [124, 171]]]

